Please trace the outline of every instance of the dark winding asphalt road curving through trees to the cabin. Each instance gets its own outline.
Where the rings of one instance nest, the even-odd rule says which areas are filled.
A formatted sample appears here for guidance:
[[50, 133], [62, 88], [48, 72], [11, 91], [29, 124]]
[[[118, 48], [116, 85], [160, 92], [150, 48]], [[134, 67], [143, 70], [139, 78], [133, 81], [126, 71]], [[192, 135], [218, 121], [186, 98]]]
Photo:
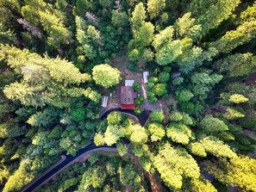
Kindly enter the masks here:
[[[129, 115], [135, 116], [139, 121], [140, 125], [144, 126], [147, 122], [148, 116], [150, 111], [143, 111], [141, 115], [136, 115], [133, 110], [122, 110], [121, 108], [107, 108], [103, 113], [100, 115], [100, 119], [106, 118], [109, 113], [112, 111], [120, 111], [123, 113], [127, 113]], [[36, 178], [32, 183], [28, 184], [22, 192], [31, 192], [34, 189], [37, 189], [41, 184], [46, 183], [49, 178], [57, 175], [60, 170], [65, 169], [65, 167], [69, 164], [72, 164], [74, 161], [78, 160], [78, 158], [86, 155], [91, 154], [91, 152], [99, 152], [99, 151], [108, 151], [116, 149], [116, 145], [113, 146], [95, 146], [93, 142], [91, 142], [88, 146], [78, 150], [77, 154], [73, 157], [72, 155], [66, 155], [66, 152], [62, 152], [62, 155], [65, 156], [65, 159], [61, 159], [55, 166], [47, 170], [45, 173], [41, 175], [41, 177]]]

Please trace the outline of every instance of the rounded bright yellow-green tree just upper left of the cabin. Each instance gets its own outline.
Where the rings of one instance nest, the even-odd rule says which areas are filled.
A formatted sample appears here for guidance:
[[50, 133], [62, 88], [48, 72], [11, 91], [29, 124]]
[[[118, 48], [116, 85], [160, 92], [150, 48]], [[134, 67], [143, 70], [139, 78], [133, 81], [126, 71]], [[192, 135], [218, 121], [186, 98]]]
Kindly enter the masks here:
[[96, 84], [103, 85], [106, 88], [119, 84], [121, 80], [121, 72], [108, 64], [94, 66], [92, 76]]

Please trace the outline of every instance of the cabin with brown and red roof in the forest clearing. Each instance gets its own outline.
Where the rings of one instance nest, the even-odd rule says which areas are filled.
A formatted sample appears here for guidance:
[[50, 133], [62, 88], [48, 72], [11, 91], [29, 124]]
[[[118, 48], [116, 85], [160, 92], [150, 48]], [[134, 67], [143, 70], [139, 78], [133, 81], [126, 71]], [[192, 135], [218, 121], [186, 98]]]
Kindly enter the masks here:
[[126, 80], [125, 86], [117, 88], [118, 102], [122, 109], [136, 108], [134, 100], [138, 97], [137, 92], [133, 88], [134, 80]]

